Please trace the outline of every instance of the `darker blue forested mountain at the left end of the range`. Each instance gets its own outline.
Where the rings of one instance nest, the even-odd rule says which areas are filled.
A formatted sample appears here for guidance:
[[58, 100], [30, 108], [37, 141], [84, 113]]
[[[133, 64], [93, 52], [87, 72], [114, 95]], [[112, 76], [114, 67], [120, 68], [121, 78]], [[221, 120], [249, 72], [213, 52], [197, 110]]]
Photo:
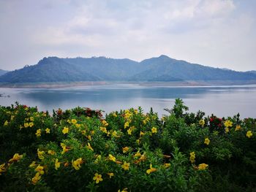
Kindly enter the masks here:
[[92, 74], [80, 72], [76, 66], [61, 58], [43, 58], [34, 66], [25, 66], [0, 77], [0, 82], [65, 82], [99, 80]]

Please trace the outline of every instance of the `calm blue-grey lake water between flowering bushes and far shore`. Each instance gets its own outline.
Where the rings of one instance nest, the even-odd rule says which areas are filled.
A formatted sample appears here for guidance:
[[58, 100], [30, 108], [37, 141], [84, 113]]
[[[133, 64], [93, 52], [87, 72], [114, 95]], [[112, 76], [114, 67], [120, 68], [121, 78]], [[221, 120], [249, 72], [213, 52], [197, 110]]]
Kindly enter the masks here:
[[[148, 112], [153, 107], [159, 115], [172, 108], [176, 98], [181, 98], [190, 112], [202, 110], [206, 115], [233, 116], [240, 112], [242, 118], [256, 118], [256, 85], [154, 87], [143, 85], [94, 85], [75, 88], [0, 88], [0, 105], [20, 104], [37, 106], [39, 110], [63, 110], [73, 107], [91, 107], [111, 112], [130, 107], [143, 107]], [[7, 97], [10, 96], [10, 97]]]

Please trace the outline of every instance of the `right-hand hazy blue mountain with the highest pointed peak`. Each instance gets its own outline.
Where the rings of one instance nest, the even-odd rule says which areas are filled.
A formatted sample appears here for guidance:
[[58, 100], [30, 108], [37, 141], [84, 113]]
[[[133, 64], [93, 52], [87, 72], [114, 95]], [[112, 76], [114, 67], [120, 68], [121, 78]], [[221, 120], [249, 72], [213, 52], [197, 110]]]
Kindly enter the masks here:
[[226, 69], [218, 69], [199, 64], [190, 64], [187, 61], [169, 58], [161, 55], [158, 58], [150, 58], [141, 62], [145, 66], [143, 72], [136, 74], [135, 80], [167, 80], [166, 77], [181, 80], [256, 80], [255, 74], [249, 72], [236, 72]]

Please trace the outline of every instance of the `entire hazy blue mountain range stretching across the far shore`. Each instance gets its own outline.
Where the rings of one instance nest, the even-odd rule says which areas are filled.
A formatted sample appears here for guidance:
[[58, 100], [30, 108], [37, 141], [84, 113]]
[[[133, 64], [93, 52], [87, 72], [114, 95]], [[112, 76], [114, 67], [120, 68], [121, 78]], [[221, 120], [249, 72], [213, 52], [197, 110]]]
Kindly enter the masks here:
[[255, 81], [256, 73], [236, 72], [160, 55], [141, 62], [127, 58], [43, 58], [1, 75], [1, 83], [83, 81]]

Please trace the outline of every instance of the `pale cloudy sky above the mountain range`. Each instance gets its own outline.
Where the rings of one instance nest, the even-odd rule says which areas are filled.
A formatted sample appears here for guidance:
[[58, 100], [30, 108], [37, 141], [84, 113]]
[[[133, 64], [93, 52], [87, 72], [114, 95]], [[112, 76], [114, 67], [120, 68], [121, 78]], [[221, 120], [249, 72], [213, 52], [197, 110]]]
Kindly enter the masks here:
[[255, 0], [0, 0], [0, 69], [48, 56], [256, 70]]

